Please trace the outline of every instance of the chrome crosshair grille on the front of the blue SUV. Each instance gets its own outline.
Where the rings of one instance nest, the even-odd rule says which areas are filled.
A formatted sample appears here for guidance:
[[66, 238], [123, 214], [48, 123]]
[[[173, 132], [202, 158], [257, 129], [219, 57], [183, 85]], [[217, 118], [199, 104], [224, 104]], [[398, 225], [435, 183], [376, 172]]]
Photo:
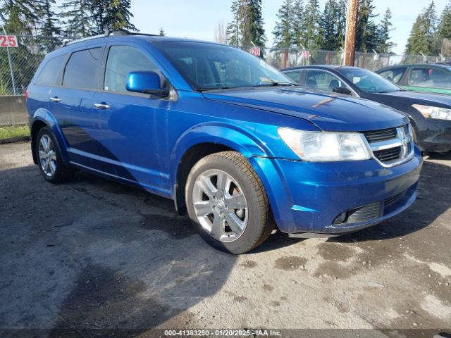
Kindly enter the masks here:
[[373, 158], [385, 167], [408, 161], [413, 156], [412, 134], [409, 125], [363, 132]]

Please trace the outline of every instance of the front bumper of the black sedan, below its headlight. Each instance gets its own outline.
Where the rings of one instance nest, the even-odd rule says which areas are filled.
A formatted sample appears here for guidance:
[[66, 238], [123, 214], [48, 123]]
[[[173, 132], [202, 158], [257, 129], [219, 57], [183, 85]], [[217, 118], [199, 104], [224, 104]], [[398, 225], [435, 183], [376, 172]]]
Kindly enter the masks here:
[[416, 142], [422, 151], [451, 151], [451, 121], [434, 118], [416, 120]]

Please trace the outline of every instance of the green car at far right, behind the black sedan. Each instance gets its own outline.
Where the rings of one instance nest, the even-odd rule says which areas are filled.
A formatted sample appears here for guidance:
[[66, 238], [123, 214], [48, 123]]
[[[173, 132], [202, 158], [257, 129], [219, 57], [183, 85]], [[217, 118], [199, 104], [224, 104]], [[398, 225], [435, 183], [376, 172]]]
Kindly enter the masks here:
[[451, 95], [451, 65], [395, 65], [376, 73], [407, 90]]

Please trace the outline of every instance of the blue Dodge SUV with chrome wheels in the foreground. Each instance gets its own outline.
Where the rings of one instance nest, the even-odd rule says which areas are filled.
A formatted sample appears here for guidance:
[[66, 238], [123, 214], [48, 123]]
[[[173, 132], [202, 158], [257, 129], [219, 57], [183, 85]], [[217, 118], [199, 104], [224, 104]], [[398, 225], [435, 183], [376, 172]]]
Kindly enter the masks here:
[[42, 175], [74, 170], [173, 199], [212, 246], [244, 253], [360, 230], [416, 198], [405, 115], [320, 94], [232, 46], [113, 32], [44, 58], [27, 90]]

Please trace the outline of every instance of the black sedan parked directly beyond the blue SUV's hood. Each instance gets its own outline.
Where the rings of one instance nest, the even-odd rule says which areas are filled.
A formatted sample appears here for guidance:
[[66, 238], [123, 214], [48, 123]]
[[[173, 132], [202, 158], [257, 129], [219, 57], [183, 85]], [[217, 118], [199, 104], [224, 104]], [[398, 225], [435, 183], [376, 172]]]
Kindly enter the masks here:
[[410, 92], [369, 70], [357, 67], [309, 65], [283, 73], [307, 89], [321, 89], [369, 99], [405, 113], [422, 151], [451, 151], [451, 96]]

